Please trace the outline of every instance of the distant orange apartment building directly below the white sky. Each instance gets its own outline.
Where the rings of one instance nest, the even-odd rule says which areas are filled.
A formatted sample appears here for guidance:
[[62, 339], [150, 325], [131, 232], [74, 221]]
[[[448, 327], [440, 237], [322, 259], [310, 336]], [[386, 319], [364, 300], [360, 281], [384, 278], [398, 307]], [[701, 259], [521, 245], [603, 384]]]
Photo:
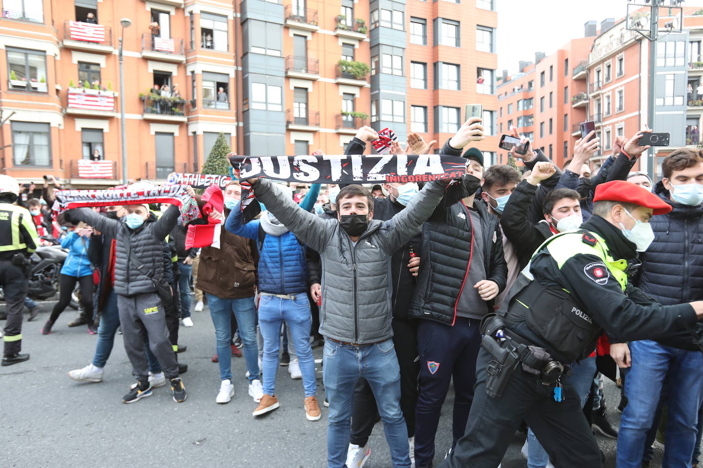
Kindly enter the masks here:
[[[594, 21], [586, 22], [584, 35], [551, 55], [536, 53], [534, 64], [520, 62], [520, 71], [498, 84], [498, 133], [516, 126], [559, 167], [573, 156], [579, 123], [587, 120], [586, 62]], [[498, 163], [507, 161], [508, 152], [499, 150]]]

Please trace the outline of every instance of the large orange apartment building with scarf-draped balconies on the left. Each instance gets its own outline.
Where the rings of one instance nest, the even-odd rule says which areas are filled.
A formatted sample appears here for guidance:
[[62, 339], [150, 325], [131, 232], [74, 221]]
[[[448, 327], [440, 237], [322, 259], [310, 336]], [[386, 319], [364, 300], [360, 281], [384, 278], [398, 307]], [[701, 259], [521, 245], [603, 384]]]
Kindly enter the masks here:
[[278, 1], [2, 0], [0, 171], [119, 183], [120, 98], [128, 178], [198, 172], [220, 132], [240, 154], [339, 154], [364, 124], [439, 147], [478, 102], [496, 133], [494, 0]]

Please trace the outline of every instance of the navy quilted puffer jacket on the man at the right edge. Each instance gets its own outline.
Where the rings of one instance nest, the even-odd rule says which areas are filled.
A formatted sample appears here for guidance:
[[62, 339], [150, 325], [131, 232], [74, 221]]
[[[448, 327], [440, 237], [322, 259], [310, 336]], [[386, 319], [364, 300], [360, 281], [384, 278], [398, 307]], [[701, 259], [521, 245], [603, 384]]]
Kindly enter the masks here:
[[640, 254], [637, 286], [663, 305], [703, 299], [703, 206], [686, 206], [669, 199], [662, 182], [654, 194], [673, 207], [652, 217], [654, 242]]

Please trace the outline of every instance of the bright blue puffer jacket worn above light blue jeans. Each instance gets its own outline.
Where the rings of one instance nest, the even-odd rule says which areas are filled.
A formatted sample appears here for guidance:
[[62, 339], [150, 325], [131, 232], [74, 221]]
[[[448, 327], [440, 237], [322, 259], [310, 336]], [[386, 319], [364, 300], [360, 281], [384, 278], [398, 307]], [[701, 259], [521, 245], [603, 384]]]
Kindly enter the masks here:
[[[299, 206], [309, 211], [317, 200], [320, 185], [313, 184]], [[264, 214], [265, 216], [266, 214]], [[232, 234], [259, 240], [261, 221], [252, 220], [242, 224], [239, 204], [230, 212], [225, 228]], [[260, 244], [260, 243], [259, 243]], [[259, 255], [259, 292], [271, 294], [305, 293], [308, 289], [308, 271], [305, 261], [305, 246], [292, 232], [280, 236], [266, 234]]]

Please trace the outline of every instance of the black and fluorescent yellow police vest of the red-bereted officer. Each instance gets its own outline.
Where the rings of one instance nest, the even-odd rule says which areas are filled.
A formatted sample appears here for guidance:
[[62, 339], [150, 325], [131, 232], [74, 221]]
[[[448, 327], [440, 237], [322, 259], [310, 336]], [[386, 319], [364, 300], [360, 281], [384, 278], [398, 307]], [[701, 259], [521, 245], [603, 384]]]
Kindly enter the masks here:
[[[586, 243], [583, 241], [584, 235], [591, 236], [595, 242]], [[545, 247], [559, 269], [574, 255], [595, 255], [605, 263], [610, 274], [625, 290], [627, 261], [615, 260], [598, 234], [585, 229], [557, 234], [542, 243], [536, 252]], [[593, 322], [588, 311], [568, 290], [549, 289], [535, 281], [529, 273], [529, 266], [525, 267], [516, 281], [520, 284], [516, 284], [516, 293], [512, 295], [505, 319], [512, 323], [527, 323], [532, 333], [549, 343], [569, 362], [585, 358], [595, 348], [602, 328]]]

